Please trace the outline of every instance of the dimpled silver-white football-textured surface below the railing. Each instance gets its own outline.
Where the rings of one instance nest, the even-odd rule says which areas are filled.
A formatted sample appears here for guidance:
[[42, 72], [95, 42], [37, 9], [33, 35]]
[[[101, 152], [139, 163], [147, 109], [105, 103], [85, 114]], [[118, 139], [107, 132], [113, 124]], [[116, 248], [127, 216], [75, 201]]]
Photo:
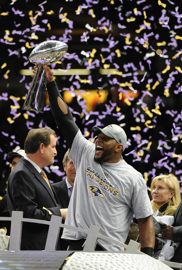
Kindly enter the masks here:
[[171, 270], [164, 263], [148, 255], [124, 253], [75, 252], [61, 270]]

